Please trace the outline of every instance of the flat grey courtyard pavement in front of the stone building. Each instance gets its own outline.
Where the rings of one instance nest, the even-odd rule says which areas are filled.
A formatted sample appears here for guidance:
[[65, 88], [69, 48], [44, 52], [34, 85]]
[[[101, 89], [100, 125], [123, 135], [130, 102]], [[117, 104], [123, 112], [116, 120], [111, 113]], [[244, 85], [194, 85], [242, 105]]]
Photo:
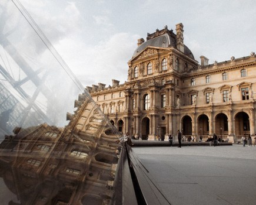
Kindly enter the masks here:
[[256, 204], [256, 146], [132, 149], [171, 204]]

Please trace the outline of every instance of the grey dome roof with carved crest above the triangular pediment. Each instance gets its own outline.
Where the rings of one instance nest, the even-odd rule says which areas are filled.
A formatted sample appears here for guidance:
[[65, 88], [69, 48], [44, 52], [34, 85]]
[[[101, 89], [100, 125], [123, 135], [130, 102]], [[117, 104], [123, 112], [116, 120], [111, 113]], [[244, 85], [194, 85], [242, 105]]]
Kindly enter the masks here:
[[[148, 46], [163, 48], [175, 47], [177, 49], [176, 35], [172, 32], [172, 30], [168, 30], [167, 28], [162, 30], [157, 29], [157, 31], [152, 34], [148, 33], [147, 41], [145, 41], [137, 47], [134, 54], [132, 55], [132, 58], [137, 56], [137, 54], [141, 53], [142, 50], [144, 50]], [[191, 59], [194, 59], [194, 55], [186, 45], [184, 45], [184, 54], [190, 57]]]

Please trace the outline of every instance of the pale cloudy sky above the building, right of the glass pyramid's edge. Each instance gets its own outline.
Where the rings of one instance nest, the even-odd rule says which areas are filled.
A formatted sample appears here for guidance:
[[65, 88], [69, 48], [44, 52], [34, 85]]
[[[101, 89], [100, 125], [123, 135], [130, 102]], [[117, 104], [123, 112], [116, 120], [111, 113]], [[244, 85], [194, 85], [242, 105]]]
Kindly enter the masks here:
[[137, 39], [184, 25], [198, 62], [256, 52], [256, 1], [19, 0], [84, 86], [124, 83]]

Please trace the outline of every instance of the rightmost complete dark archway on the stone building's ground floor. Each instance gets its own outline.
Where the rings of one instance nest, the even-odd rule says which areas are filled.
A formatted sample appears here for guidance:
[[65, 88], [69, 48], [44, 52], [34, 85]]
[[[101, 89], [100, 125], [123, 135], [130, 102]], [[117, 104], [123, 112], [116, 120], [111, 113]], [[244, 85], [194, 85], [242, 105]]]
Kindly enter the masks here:
[[246, 112], [238, 112], [235, 115], [235, 136], [240, 138], [244, 135], [250, 135], [249, 116]]

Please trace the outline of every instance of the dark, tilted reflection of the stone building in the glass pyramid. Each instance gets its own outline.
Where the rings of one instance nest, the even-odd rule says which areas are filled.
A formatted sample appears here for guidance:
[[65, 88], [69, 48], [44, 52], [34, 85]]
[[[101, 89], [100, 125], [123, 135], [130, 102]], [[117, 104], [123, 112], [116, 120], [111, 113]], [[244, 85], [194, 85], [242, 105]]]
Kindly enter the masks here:
[[1, 177], [20, 204], [111, 203], [117, 135], [85, 95], [76, 105], [67, 127], [15, 128], [1, 143]]

